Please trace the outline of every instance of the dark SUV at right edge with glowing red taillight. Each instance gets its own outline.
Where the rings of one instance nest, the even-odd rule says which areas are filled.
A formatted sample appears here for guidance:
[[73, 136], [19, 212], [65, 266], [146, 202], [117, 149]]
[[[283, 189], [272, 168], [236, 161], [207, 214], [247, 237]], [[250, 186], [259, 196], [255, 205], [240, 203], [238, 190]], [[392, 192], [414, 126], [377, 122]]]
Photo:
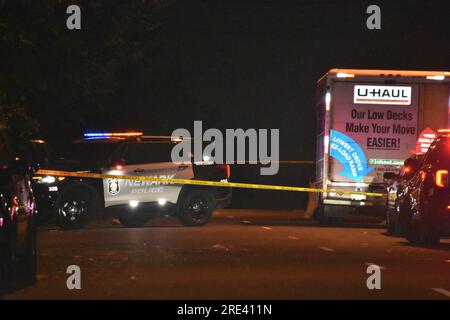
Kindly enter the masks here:
[[450, 135], [438, 136], [399, 198], [400, 224], [412, 243], [436, 244], [450, 233]]

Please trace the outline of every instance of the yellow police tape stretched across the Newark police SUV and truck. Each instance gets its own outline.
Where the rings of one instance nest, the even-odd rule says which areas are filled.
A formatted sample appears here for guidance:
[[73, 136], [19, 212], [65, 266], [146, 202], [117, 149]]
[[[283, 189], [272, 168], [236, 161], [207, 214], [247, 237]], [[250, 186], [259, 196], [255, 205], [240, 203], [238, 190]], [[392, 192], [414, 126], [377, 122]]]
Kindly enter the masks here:
[[238, 182], [220, 182], [208, 180], [190, 180], [190, 179], [173, 179], [173, 178], [157, 178], [148, 176], [127, 176], [104, 173], [89, 173], [89, 172], [73, 172], [73, 171], [59, 171], [59, 170], [39, 170], [38, 175], [49, 175], [57, 177], [77, 177], [88, 179], [122, 179], [122, 180], [136, 180], [136, 181], [154, 181], [171, 184], [188, 184], [196, 186], [210, 186], [210, 187], [228, 187], [228, 188], [245, 188], [245, 189], [260, 189], [260, 190], [279, 190], [279, 191], [297, 191], [297, 192], [317, 192], [317, 193], [337, 193], [337, 194], [358, 194], [371, 197], [382, 197], [382, 193], [362, 192], [350, 190], [325, 190], [319, 188], [303, 188], [290, 186], [276, 186], [269, 184], [253, 184], [253, 183], [238, 183]]

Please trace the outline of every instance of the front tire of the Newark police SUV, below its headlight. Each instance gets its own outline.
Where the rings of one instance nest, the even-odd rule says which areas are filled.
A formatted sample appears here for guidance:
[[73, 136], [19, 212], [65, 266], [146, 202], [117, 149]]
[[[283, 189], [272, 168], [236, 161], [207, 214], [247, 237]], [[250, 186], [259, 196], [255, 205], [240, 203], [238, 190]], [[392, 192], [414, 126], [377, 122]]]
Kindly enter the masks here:
[[[62, 214], [62, 210], [67, 205], [81, 205], [83, 213], [78, 217], [67, 217]], [[57, 225], [64, 230], [83, 228], [96, 210], [95, 194], [87, 188], [78, 187], [68, 189], [61, 195], [56, 206]]]

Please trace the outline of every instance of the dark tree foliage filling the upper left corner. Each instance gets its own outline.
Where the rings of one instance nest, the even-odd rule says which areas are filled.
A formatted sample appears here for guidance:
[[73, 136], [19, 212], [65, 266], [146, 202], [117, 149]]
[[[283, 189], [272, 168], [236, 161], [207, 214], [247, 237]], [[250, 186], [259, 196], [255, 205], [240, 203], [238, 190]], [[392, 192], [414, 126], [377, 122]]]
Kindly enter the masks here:
[[[121, 72], [161, 46], [172, 3], [0, 0], [0, 117], [30, 134], [33, 119], [47, 134], [101, 121]], [[66, 27], [71, 4], [81, 8], [81, 30]]]

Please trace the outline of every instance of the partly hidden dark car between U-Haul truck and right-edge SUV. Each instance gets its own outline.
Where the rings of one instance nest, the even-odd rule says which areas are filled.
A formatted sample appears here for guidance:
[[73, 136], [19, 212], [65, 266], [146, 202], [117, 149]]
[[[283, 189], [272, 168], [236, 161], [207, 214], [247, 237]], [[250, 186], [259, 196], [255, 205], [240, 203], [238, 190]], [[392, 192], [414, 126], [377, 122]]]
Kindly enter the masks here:
[[420, 169], [423, 163], [423, 155], [412, 155], [406, 159], [399, 174], [386, 172], [384, 180], [387, 182], [387, 204], [386, 204], [386, 229], [389, 235], [402, 235], [400, 225], [400, 203], [399, 199], [408, 185], [408, 182]]

